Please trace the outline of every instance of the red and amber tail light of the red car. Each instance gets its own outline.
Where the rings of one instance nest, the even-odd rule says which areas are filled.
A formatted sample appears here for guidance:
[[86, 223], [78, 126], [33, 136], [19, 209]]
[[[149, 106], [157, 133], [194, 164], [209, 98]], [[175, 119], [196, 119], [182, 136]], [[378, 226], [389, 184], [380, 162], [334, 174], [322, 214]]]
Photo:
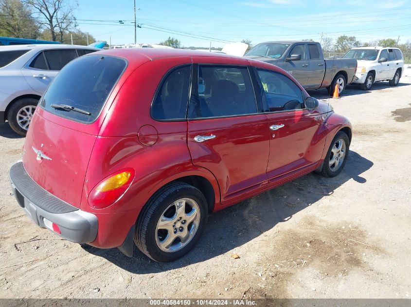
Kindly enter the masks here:
[[105, 178], [91, 190], [89, 206], [103, 209], [117, 202], [130, 187], [134, 174], [133, 169], [125, 169]]

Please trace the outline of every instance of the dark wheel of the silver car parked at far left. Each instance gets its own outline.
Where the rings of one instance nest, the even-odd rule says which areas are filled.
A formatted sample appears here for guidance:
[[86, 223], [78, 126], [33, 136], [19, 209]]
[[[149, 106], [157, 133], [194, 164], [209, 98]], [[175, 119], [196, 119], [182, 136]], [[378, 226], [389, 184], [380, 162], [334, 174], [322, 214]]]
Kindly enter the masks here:
[[19, 135], [26, 136], [37, 104], [38, 99], [30, 97], [13, 102], [7, 112], [7, 120], [11, 129]]

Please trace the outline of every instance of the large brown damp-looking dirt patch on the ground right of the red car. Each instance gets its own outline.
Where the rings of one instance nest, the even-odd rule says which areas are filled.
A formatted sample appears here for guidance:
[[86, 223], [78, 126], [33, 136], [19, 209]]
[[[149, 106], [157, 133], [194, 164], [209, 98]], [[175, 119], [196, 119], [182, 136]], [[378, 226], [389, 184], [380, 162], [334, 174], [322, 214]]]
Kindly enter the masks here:
[[299, 226], [279, 231], [271, 240], [263, 255], [272, 255], [272, 258], [259, 259], [264, 267], [260, 281], [245, 295], [247, 298], [290, 297], [288, 282], [301, 271], [313, 271], [323, 279], [345, 277], [356, 269], [371, 269], [365, 256], [381, 253], [375, 243], [368, 242], [367, 232], [352, 222], [326, 225], [316, 217], [306, 217]]

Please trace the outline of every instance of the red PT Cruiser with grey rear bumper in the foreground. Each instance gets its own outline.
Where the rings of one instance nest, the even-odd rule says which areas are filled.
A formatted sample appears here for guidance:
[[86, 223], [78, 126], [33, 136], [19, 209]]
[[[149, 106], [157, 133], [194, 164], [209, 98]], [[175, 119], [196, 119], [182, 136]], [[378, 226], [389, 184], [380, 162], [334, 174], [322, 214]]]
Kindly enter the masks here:
[[171, 261], [207, 215], [312, 171], [351, 124], [284, 70], [215, 53], [116, 49], [66, 65], [10, 169], [26, 214], [72, 242]]

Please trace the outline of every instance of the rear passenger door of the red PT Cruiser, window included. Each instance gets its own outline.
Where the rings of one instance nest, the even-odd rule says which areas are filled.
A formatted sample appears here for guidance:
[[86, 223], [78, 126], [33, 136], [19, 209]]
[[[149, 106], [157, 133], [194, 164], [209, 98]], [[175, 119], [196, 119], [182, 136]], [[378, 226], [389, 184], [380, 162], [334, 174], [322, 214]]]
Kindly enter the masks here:
[[188, 147], [194, 165], [217, 178], [221, 202], [229, 203], [267, 183], [267, 117], [258, 113], [246, 65], [194, 65], [193, 76]]

